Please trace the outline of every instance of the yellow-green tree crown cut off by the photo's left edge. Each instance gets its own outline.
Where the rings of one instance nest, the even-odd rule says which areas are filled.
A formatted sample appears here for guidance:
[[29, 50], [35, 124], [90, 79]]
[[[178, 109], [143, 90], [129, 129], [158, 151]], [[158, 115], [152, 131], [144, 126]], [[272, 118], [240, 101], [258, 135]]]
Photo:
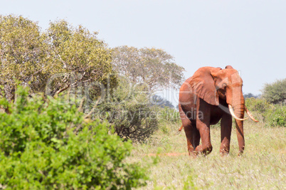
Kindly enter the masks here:
[[14, 99], [16, 80], [43, 90], [48, 70], [47, 44], [36, 22], [22, 16], [0, 16], [0, 85], [5, 97]]

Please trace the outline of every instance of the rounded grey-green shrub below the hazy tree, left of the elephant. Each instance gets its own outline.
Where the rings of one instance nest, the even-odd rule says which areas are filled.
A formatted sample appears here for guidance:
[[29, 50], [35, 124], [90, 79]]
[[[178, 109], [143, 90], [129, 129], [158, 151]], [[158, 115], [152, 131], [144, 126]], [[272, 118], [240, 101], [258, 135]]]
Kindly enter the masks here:
[[157, 130], [157, 118], [149, 95], [140, 85], [121, 80], [107, 100], [97, 105], [95, 118], [107, 119], [122, 138], [144, 142]]

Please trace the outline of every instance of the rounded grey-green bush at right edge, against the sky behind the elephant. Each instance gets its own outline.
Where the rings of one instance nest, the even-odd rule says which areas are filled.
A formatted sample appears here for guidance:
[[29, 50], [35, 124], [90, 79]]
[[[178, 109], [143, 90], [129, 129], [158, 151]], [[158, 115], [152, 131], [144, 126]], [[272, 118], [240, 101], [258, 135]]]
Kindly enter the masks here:
[[286, 101], [286, 78], [274, 83], [266, 83], [262, 97], [270, 103], [278, 104]]

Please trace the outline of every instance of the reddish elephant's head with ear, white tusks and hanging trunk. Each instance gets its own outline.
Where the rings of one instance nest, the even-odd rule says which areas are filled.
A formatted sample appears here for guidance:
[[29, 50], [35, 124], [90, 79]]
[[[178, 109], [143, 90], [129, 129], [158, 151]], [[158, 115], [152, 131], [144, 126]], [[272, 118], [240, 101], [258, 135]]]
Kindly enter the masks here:
[[[243, 119], [244, 112], [248, 112], [250, 118], [255, 122], [258, 121], [245, 107], [242, 91], [243, 80], [238, 71], [230, 65], [226, 66], [225, 69], [204, 67], [194, 73], [190, 82], [192, 89], [195, 90], [194, 93], [209, 104], [219, 105], [219, 98], [226, 100], [229, 112], [235, 118], [240, 152], [243, 152], [243, 120], [247, 119]], [[226, 111], [228, 111], [227, 108]]]

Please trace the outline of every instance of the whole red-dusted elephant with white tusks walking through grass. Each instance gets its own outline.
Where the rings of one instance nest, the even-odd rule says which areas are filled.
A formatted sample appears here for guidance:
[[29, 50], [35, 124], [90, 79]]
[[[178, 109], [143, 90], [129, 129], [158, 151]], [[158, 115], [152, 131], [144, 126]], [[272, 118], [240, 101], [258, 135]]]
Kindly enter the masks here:
[[[221, 120], [221, 155], [230, 151], [232, 117], [235, 118], [239, 153], [243, 154], [244, 112], [255, 122], [245, 106], [242, 92], [243, 80], [231, 65], [225, 69], [203, 67], [196, 70], [179, 90], [179, 113], [181, 128], [184, 127], [189, 155], [209, 154], [211, 145], [210, 125]], [[201, 139], [201, 144], [200, 143]]]

